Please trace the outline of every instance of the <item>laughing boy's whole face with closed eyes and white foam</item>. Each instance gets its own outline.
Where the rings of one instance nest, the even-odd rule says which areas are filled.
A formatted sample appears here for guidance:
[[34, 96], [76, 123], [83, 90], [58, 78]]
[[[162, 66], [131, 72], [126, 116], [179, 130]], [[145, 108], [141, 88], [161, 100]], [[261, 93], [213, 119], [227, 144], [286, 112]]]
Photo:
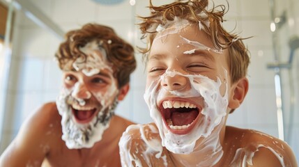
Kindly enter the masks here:
[[173, 30], [153, 42], [144, 99], [167, 150], [208, 151], [217, 162], [228, 105], [226, 59], [197, 26]]

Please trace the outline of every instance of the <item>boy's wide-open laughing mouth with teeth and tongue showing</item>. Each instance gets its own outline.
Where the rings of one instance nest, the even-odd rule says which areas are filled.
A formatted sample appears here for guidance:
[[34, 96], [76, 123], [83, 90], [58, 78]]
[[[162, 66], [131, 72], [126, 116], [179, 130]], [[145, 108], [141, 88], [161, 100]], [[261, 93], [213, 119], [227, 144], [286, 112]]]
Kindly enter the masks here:
[[192, 129], [194, 120], [199, 116], [199, 109], [195, 104], [183, 101], [164, 101], [160, 107], [164, 122], [171, 132], [185, 134]]

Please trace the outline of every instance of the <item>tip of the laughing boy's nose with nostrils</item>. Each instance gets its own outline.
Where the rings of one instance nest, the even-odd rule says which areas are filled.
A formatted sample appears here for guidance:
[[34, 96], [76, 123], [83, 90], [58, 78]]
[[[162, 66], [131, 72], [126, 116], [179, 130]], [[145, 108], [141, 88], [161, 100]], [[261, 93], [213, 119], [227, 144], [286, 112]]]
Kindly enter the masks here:
[[162, 79], [161, 84], [167, 90], [179, 90], [179, 89], [184, 88], [186, 86], [187, 79], [186, 79], [186, 77], [183, 77], [183, 76], [178, 75], [178, 74], [174, 75], [174, 77], [165, 76]]

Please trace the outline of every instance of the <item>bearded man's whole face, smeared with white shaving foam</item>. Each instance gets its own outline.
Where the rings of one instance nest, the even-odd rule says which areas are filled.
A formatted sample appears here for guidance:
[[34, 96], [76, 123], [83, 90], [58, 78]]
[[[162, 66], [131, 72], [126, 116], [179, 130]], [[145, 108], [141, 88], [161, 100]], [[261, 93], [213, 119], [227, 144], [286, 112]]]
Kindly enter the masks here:
[[56, 100], [62, 139], [70, 149], [91, 148], [100, 141], [118, 103], [117, 80], [105, 50], [95, 41], [80, 50], [86, 61], [79, 57], [72, 63], [77, 72], [64, 69], [64, 86]]

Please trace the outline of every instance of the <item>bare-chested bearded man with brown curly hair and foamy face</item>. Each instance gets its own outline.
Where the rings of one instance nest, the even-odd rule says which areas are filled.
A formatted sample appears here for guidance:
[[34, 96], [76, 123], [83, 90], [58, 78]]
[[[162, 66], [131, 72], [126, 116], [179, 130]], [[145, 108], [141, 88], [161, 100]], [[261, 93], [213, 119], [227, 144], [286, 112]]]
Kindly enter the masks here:
[[113, 29], [86, 24], [56, 53], [63, 88], [31, 116], [0, 166], [121, 166], [118, 141], [132, 122], [114, 116], [135, 70], [134, 49]]

